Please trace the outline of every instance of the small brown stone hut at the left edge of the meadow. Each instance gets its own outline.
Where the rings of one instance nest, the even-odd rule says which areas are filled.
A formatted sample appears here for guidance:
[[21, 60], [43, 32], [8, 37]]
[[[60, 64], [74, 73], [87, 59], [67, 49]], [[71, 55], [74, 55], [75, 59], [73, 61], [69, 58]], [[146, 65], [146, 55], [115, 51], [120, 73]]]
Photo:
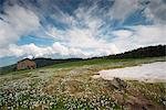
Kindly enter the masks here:
[[32, 59], [29, 59], [29, 58], [22, 59], [22, 61], [18, 62], [18, 64], [17, 64], [18, 70], [34, 69], [34, 68], [37, 68], [35, 62], [33, 62]]

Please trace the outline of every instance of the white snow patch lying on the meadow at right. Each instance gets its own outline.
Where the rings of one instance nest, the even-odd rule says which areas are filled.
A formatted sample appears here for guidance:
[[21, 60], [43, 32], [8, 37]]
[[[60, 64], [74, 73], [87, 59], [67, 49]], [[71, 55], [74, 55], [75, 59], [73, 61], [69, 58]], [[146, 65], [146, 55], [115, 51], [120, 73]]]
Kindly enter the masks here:
[[98, 73], [102, 78], [107, 80], [118, 77], [125, 80], [166, 82], [166, 62], [156, 62], [134, 67], [101, 70]]

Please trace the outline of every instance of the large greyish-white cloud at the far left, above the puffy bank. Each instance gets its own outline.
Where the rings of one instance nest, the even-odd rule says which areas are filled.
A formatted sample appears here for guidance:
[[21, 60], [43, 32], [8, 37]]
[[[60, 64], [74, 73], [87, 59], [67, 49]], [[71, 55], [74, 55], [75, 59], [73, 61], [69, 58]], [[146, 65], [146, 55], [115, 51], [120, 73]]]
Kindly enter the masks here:
[[0, 47], [17, 42], [40, 26], [39, 18], [30, 10], [19, 6], [6, 7], [0, 20]]

